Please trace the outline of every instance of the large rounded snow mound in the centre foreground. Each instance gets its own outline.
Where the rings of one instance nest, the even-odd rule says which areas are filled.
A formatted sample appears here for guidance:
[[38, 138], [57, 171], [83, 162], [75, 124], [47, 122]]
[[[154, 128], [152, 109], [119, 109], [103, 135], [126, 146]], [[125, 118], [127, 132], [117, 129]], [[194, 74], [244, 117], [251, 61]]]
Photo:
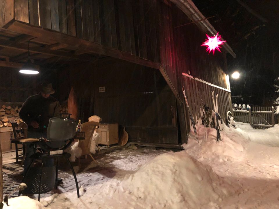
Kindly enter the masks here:
[[122, 186], [154, 208], [208, 208], [208, 204], [222, 201], [237, 190], [185, 150], [155, 157]]

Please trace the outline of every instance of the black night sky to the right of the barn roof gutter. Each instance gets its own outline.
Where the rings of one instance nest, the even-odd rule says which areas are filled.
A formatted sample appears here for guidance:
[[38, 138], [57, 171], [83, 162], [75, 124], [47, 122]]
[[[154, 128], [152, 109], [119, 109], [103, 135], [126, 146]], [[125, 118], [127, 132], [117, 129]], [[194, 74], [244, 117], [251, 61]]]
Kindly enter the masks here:
[[[271, 106], [279, 96], [273, 84], [279, 77], [279, 1], [194, 0], [236, 54], [227, 53], [232, 102]], [[206, 38], [206, 37], [205, 37]], [[217, 52], [219, 53], [219, 52]], [[237, 96], [237, 97], [236, 97]], [[240, 96], [240, 97], [239, 97]]]

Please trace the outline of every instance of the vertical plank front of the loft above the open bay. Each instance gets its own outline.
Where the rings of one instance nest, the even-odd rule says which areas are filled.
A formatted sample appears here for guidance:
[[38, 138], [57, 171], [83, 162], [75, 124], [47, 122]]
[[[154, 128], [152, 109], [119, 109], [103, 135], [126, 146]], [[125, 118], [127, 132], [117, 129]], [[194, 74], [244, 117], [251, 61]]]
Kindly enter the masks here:
[[[171, 19], [168, 8], [159, 8], [158, 4], [164, 5], [161, 0], [14, 0], [14, 3], [16, 20], [154, 62], [160, 62], [159, 30], [162, 27], [159, 28], [158, 10], [164, 12], [162, 18]], [[10, 3], [5, 4], [8, 7]], [[9, 20], [3, 19], [0, 23]], [[171, 26], [169, 21], [166, 24]], [[171, 66], [171, 62], [164, 64]]]

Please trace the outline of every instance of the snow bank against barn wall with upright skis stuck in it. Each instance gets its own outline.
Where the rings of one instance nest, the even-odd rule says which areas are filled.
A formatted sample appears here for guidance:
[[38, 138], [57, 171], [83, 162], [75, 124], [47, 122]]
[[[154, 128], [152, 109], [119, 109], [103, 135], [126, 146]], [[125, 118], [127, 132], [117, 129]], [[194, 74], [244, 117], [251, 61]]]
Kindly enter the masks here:
[[191, 130], [188, 143], [183, 145], [187, 153], [195, 159], [226, 162], [242, 161], [245, 157], [244, 149], [250, 139], [241, 129], [228, 128], [221, 124], [221, 141], [216, 142], [216, 129], [205, 129], [204, 126], [196, 128], [200, 143], [197, 143]]

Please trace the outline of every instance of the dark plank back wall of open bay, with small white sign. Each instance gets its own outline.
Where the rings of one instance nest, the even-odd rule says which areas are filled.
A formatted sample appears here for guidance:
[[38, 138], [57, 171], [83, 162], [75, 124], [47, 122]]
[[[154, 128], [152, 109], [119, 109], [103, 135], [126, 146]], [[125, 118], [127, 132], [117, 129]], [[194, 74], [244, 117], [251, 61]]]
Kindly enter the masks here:
[[[108, 62], [67, 67], [57, 74], [58, 80], [64, 78], [58, 87], [59, 100], [65, 100], [74, 86], [83, 121], [98, 115], [102, 123], [125, 126], [130, 140], [178, 143], [176, 98], [158, 70]], [[99, 87], [105, 87], [105, 92], [99, 92]]]

